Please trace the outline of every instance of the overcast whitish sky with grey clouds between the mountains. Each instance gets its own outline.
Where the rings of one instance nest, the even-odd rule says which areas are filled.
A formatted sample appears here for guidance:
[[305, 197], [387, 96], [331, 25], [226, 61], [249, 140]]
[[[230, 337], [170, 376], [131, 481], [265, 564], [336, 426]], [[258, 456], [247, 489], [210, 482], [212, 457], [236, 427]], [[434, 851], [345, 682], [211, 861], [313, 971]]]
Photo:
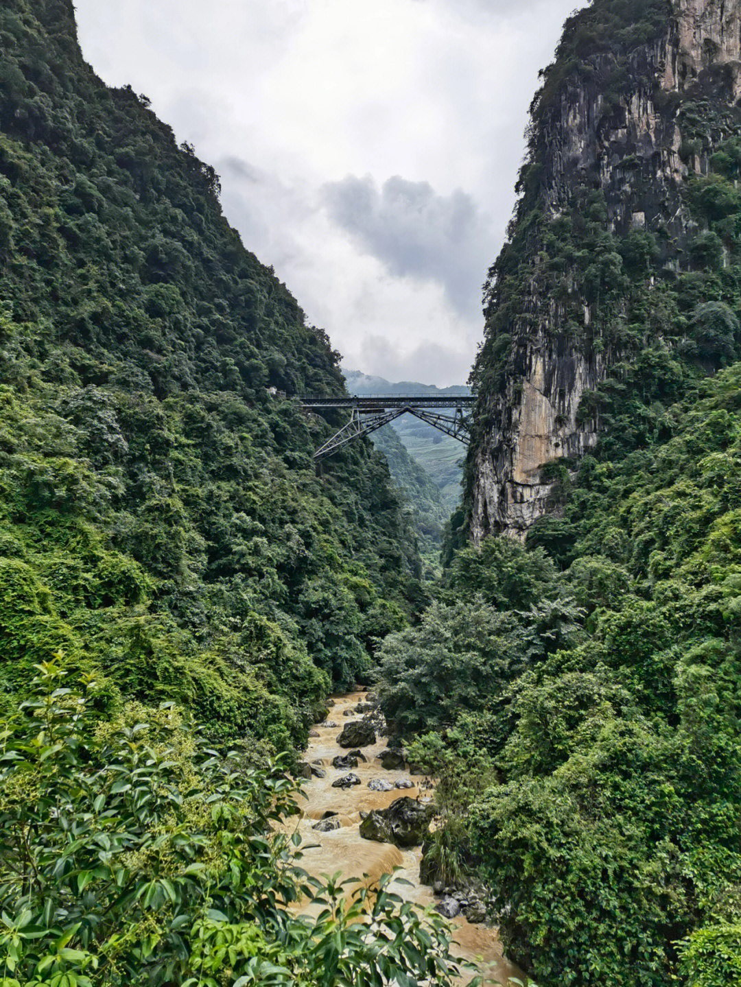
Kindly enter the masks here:
[[77, 0], [348, 369], [465, 383], [527, 110], [584, 0]]

